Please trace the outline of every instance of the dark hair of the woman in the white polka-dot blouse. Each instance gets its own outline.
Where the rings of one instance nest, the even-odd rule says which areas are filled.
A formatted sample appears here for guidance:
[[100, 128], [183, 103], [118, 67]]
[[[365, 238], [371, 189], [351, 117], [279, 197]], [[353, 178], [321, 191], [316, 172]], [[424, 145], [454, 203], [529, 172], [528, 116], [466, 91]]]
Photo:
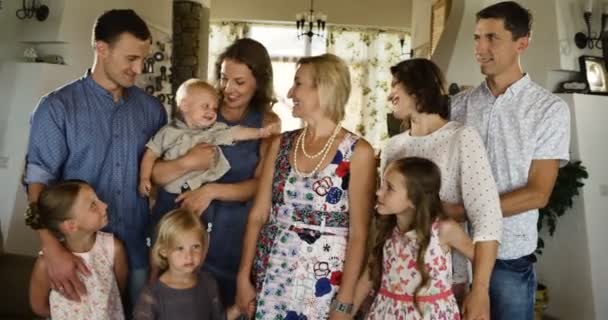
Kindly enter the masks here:
[[422, 58], [403, 60], [391, 67], [391, 73], [405, 91], [415, 97], [418, 112], [449, 118], [450, 99], [445, 78], [435, 63]]

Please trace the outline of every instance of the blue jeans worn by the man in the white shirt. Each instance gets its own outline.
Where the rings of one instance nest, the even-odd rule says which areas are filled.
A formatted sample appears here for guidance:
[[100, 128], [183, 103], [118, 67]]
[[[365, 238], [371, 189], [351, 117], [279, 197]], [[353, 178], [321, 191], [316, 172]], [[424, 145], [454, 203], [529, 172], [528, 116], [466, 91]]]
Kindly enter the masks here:
[[536, 257], [496, 260], [490, 278], [492, 320], [534, 320]]

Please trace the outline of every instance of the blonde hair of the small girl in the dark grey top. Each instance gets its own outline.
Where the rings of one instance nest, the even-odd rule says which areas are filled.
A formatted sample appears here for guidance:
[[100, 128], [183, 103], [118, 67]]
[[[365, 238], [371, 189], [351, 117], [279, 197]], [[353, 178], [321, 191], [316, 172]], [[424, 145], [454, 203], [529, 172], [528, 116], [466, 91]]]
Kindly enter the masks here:
[[156, 227], [156, 241], [152, 246], [152, 263], [160, 270], [166, 270], [169, 263], [161, 251], [172, 250], [178, 235], [190, 231], [198, 232], [203, 246], [208, 245], [207, 230], [203, 227], [198, 215], [186, 209], [175, 209], [165, 214]]

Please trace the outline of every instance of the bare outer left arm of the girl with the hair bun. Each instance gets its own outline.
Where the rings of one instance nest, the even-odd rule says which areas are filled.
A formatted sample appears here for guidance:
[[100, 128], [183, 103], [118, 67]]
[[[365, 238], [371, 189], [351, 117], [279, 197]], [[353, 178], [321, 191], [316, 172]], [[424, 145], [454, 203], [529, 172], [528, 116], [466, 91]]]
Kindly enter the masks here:
[[30, 306], [35, 314], [41, 317], [49, 317], [51, 310], [49, 306], [49, 295], [51, 293], [51, 282], [46, 273], [44, 257], [36, 259], [30, 278]]

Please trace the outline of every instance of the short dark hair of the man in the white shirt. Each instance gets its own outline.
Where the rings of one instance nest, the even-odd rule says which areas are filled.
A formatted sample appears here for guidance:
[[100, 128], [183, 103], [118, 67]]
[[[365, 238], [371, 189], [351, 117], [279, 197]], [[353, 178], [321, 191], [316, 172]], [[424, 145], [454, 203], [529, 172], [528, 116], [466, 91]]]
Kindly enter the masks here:
[[528, 37], [532, 32], [532, 14], [515, 1], [504, 1], [493, 4], [477, 12], [477, 21], [481, 19], [500, 19], [505, 29], [513, 35], [513, 40]]

